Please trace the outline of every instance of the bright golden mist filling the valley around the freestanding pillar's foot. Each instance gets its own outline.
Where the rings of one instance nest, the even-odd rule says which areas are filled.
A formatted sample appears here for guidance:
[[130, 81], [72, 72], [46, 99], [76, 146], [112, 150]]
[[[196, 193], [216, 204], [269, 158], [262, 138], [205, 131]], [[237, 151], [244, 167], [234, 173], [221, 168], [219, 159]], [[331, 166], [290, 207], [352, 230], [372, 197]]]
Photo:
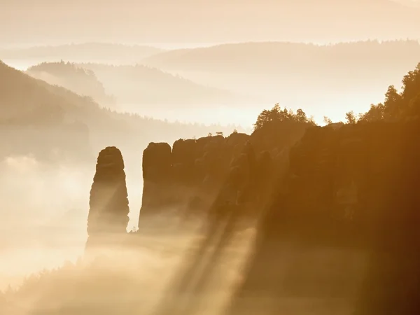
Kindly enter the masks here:
[[[143, 189], [141, 155], [125, 153], [130, 198], [127, 230], [136, 231]], [[139, 246], [105, 248], [86, 256], [94, 164], [92, 159], [52, 166], [31, 155], [3, 159], [0, 309], [5, 314], [153, 314], [174, 276], [188, 265], [189, 253], [200, 246], [202, 220], [190, 221], [188, 228], [183, 225], [180, 230], [179, 217], [162, 216], [146, 222], [151, 232], [137, 240]], [[226, 258], [228, 268], [221, 270], [202, 297], [202, 314], [227, 307], [254, 237], [253, 229], [237, 235], [235, 249]], [[96, 256], [108, 258], [95, 260]]]

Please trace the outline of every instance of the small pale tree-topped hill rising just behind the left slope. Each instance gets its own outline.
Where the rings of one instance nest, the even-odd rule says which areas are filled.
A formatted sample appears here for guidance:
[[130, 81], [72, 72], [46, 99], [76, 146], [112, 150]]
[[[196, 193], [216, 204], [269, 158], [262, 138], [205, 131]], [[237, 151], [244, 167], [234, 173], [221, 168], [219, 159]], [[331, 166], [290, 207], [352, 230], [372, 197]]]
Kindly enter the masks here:
[[104, 86], [94, 72], [69, 62], [43, 62], [31, 66], [26, 73], [51, 85], [66, 87], [82, 96], [90, 96], [99, 104], [113, 106], [115, 99], [106, 94]]

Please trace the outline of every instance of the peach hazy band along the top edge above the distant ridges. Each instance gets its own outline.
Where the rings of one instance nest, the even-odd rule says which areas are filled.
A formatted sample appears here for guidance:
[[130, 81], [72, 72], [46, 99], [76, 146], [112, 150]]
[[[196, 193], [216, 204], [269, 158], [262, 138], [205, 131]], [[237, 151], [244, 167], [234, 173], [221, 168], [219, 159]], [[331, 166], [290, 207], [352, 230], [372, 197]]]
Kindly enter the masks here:
[[[0, 15], [0, 39], [10, 41], [141, 41], [144, 43], [221, 43], [232, 41], [329, 42], [367, 38], [419, 38], [418, 8], [390, 0], [209, 1], [176, 3], [107, 1], [100, 17], [97, 1], [49, 10], [9, 0]], [[163, 8], [163, 9], [162, 9]], [[25, 16], [25, 25], [16, 20]], [[215, 22], [217, 21], [216, 25]], [[83, 25], [83, 26], [82, 26]], [[48, 34], [43, 36], [43, 34]]]

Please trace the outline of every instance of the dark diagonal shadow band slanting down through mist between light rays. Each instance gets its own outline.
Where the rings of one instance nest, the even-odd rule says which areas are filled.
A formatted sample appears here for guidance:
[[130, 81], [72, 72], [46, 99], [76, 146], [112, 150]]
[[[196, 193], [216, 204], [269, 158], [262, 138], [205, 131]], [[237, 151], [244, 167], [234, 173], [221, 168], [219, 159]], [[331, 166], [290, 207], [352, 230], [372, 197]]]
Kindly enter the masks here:
[[[211, 276], [214, 267], [221, 259], [225, 246], [228, 245], [237, 223], [246, 216], [244, 193], [253, 182], [255, 173], [255, 153], [249, 142], [242, 148], [243, 153], [233, 158], [225, 179], [207, 211], [202, 211], [206, 220], [202, 227], [204, 241], [193, 252], [186, 272], [179, 274], [169, 288], [169, 300], [162, 303], [157, 314], [194, 314], [202, 290]], [[215, 248], [213, 253], [209, 253]], [[194, 300], [186, 296], [194, 294]]]

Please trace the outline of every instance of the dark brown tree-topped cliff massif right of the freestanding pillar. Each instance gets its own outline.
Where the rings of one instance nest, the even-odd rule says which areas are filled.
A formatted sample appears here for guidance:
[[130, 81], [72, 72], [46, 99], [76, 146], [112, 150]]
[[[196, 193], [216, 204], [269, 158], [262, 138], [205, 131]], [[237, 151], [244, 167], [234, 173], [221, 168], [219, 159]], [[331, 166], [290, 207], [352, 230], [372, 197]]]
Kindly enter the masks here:
[[[244, 220], [257, 237], [230, 314], [419, 314], [420, 64], [402, 83], [346, 124], [319, 127], [276, 105], [249, 136], [149, 144], [139, 234], [162, 217], [164, 228], [193, 216], [208, 225], [158, 314], [195, 314]], [[180, 303], [187, 288], [194, 298]]]

